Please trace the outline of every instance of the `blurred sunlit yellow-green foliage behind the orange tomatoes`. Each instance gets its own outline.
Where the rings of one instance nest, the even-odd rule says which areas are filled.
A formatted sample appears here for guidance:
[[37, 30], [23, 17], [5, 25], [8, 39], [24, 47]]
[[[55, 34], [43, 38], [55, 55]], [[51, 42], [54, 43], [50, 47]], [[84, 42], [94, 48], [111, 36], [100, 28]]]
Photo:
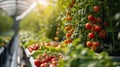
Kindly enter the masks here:
[[[49, 5], [44, 7], [40, 4], [29, 13], [21, 22], [20, 30], [31, 31], [39, 34], [41, 38], [54, 40], [56, 36], [57, 24], [62, 24], [60, 19], [60, 10], [54, 0], [50, 0]], [[62, 39], [63, 32], [59, 35]]]

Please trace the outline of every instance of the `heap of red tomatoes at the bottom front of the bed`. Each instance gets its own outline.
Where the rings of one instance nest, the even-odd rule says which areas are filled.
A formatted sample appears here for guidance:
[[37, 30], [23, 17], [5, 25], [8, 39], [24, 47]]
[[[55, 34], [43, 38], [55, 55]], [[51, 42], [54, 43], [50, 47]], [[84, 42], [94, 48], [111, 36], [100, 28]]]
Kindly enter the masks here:
[[40, 58], [34, 60], [34, 64], [36, 67], [58, 67], [58, 59], [62, 59], [62, 56], [57, 57], [44, 53]]

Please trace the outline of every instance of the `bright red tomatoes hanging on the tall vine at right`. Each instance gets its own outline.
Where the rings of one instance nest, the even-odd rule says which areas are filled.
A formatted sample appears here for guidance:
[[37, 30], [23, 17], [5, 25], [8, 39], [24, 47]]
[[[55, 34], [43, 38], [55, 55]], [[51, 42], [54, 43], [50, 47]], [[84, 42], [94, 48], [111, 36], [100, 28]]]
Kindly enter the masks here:
[[[93, 11], [95, 14], [100, 12], [99, 6], [94, 6]], [[100, 17], [94, 17], [93, 15], [88, 16], [88, 22], [85, 24], [85, 27], [87, 30], [90, 30], [90, 33], [88, 33], [89, 41], [86, 42], [86, 45], [96, 50], [96, 48], [100, 45], [99, 41], [96, 41], [97, 35], [99, 38], [105, 38], [106, 37], [106, 31], [103, 29], [103, 26], [108, 26], [108, 23], [103, 21]]]

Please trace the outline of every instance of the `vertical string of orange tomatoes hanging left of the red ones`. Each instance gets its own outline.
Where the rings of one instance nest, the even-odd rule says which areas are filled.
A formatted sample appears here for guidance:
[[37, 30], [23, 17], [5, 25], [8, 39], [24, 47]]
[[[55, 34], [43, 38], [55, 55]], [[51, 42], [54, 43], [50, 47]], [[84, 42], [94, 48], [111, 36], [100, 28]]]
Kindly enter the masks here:
[[[72, 8], [73, 5], [76, 3], [76, 0], [72, 0], [70, 5], [68, 6], [69, 8]], [[73, 25], [71, 22], [72, 20], [72, 15], [71, 15], [71, 12], [69, 10], [66, 10], [66, 20], [67, 20], [67, 23], [66, 23], [66, 26], [65, 26], [65, 31], [67, 32], [66, 33], [66, 39], [64, 40], [64, 43], [65, 44], [69, 44], [72, 42], [72, 38], [71, 38], [71, 35], [73, 34], [74, 32], [74, 28], [73, 28]]]

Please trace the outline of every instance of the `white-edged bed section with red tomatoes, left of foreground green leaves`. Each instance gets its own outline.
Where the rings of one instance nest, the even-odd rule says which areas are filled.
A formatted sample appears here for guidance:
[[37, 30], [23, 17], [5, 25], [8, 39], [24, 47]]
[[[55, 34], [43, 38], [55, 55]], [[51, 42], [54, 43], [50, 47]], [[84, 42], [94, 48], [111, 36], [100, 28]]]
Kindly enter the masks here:
[[[26, 34], [28, 36], [28, 34]], [[21, 39], [21, 46], [28, 55], [27, 57], [32, 57], [33, 64], [36, 67], [58, 67], [59, 59], [63, 58], [65, 45], [61, 45], [59, 42], [55, 41], [42, 41], [33, 40], [35, 37], [31, 38], [24, 37], [24, 35], [19, 35]]]

